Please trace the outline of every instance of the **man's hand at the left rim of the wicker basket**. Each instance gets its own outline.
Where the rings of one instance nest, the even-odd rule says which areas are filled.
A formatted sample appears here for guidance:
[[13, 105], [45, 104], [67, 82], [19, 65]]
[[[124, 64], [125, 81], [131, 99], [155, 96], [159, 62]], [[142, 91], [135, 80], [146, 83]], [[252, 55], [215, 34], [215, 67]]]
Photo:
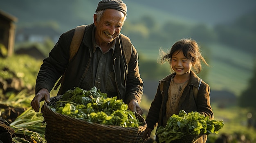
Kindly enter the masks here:
[[50, 103], [50, 93], [46, 88], [42, 88], [37, 92], [36, 96], [31, 101], [30, 105], [36, 112], [39, 112], [40, 101], [43, 100], [45, 100], [46, 103]]

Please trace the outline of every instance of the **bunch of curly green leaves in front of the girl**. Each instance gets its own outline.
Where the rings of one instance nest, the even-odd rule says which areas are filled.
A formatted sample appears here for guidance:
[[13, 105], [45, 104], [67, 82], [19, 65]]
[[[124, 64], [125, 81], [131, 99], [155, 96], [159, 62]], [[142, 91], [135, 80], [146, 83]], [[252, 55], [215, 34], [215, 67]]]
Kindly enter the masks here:
[[188, 136], [201, 136], [203, 134], [219, 133], [224, 126], [223, 121], [209, 119], [199, 112], [180, 110], [179, 115], [173, 114], [167, 121], [166, 127], [157, 129], [157, 136], [160, 143], [184, 139]]

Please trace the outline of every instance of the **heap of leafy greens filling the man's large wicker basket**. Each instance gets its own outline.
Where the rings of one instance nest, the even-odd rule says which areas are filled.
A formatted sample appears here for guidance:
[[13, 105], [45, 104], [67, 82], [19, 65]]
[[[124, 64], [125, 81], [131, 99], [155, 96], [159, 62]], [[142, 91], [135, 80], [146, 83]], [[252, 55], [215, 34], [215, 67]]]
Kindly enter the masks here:
[[128, 110], [128, 105], [121, 99], [108, 98], [96, 87], [91, 90], [78, 87], [68, 90], [56, 101], [56, 105], [49, 107], [57, 113], [92, 123], [134, 128], [141, 124], [135, 112]]

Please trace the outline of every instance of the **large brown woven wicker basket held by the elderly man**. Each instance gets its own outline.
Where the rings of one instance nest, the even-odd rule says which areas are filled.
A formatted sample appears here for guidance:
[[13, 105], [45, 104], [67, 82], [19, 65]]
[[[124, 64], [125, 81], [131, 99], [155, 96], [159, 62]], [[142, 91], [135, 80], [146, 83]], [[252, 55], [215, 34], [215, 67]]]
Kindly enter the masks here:
[[49, 108], [60, 97], [51, 97], [51, 103], [45, 103], [42, 107], [47, 143], [143, 143], [146, 121], [139, 114], [135, 116], [144, 123], [139, 128], [90, 123], [59, 114]]

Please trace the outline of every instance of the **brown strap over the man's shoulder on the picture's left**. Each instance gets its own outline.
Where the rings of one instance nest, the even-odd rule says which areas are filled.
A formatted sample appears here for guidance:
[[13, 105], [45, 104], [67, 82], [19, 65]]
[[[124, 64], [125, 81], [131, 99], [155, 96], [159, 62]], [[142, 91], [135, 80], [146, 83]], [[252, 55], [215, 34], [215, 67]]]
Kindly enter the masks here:
[[70, 58], [69, 58], [70, 61], [74, 57], [74, 55], [76, 55], [76, 53], [81, 45], [85, 27], [86, 27], [86, 25], [80, 25], [80, 26], [76, 26], [76, 28], [75, 28], [75, 32], [74, 32], [74, 35], [72, 37], [72, 41], [70, 44]]

